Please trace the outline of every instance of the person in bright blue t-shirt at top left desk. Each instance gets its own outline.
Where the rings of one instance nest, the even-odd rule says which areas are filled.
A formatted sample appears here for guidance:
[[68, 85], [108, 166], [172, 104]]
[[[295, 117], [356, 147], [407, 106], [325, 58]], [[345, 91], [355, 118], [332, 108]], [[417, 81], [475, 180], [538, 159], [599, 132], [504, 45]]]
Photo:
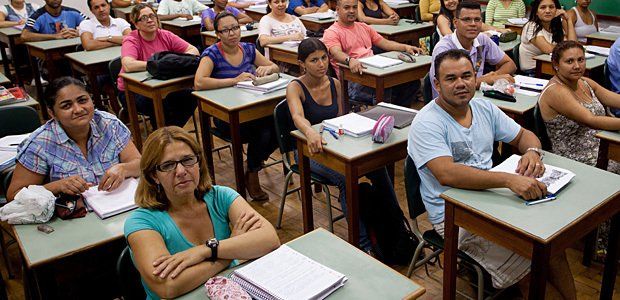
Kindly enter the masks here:
[[79, 37], [77, 27], [88, 19], [75, 8], [62, 6], [62, 0], [45, 0], [26, 21], [21, 38], [26, 42]]

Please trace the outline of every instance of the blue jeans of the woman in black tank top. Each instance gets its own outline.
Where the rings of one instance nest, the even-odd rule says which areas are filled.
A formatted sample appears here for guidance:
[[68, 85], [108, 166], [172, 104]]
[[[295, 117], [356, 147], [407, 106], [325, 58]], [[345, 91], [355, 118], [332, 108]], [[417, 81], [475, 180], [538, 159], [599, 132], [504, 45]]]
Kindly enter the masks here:
[[[297, 151], [295, 151], [295, 161], [298, 161]], [[347, 214], [347, 200], [346, 200], [346, 180], [343, 174], [340, 174], [312, 159], [310, 159], [310, 170], [323, 176], [330, 185], [335, 185], [338, 187], [338, 201], [342, 207], [342, 212]], [[396, 193], [394, 192], [394, 187], [392, 186], [392, 181], [390, 180], [390, 176], [388, 175], [386, 168], [381, 168], [376, 171], [372, 171], [366, 174], [366, 177], [370, 179], [372, 185], [375, 187], [378, 194], [386, 195], [384, 199], [388, 201], [396, 200]], [[397, 204], [398, 205], [398, 204]], [[330, 220], [331, 222], [331, 220]], [[366, 232], [366, 226], [364, 222], [362, 222], [360, 218], [360, 243], [359, 246], [362, 250], [367, 251], [372, 249], [372, 244], [370, 239], [368, 238], [368, 233]]]

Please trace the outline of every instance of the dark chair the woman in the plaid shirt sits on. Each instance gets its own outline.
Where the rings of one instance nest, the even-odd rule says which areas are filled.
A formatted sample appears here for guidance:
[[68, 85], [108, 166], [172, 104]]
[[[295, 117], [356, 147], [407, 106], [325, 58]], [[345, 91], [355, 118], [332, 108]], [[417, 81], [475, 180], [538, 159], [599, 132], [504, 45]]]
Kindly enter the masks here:
[[[29, 106], [5, 106], [0, 107], [0, 120], [2, 120], [2, 126], [0, 126], [0, 138], [7, 135], [25, 134], [33, 132], [39, 126], [41, 121], [39, 119], [39, 113]], [[6, 191], [13, 171], [0, 174], [0, 182], [3, 184], [3, 190]], [[8, 232], [7, 232], [8, 233]], [[11, 236], [10, 233], [8, 233]], [[13, 236], [11, 236], [13, 238]], [[2, 255], [4, 256], [4, 262], [7, 266], [9, 278], [14, 277], [13, 269], [9, 263], [8, 253], [6, 248], [10, 243], [4, 242], [2, 230], [0, 230], [0, 243], [2, 244]], [[1, 281], [0, 277], [0, 281]]]

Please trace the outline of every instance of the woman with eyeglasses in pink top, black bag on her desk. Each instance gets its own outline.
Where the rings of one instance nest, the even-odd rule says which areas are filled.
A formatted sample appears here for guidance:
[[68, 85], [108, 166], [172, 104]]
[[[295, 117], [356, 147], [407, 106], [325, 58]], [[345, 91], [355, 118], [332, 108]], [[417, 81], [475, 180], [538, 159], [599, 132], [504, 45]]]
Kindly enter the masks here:
[[[198, 49], [178, 37], [174, 33], [160, 29], [157, 14], [149, 4], [139, 3], [134, 6], [130, 14], [131, 21], [136, 26], [123, 39], [121, 46], [121, 73], [140, 72], [146, 70], [146, 61], [153, 54], [161, 51], [188, 53], [198, 55]], [[125, 84], [122, 77], [118, 77], [118, 98], [127, 107], [125, 99]], [[164, 116], [167, 125], [183, 127], [196, 109], [196, 100], [191, 95], [191, 89], [185, 89], [168, 94], [163, 100]], [[155, 122], [153, 101], [142, 95], [135, 95], [138, 112], [151, 117]]]

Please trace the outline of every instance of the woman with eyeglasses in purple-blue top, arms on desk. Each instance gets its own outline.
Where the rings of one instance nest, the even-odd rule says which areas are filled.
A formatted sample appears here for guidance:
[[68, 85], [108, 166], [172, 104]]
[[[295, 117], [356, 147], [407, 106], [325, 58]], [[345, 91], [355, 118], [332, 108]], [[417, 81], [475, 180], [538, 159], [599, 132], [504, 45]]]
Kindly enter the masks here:
[[[215, 17], [213, 26], [219, 42], [202, 53], [196, 71], [194, 88], [211, 90], [234, 86], [240, 81], [278, 73], [280, 69], [256, 50], [252, 43], [241, 42], [241, 29], [237, 18], [231, 13], [221, 12]], [[230, 132], [228, 123], [214, 120], [215, 126], [223, 132]], [[246, 187], [254, 200], [269, 200], [260, 187], [258, 171], [262, 162], [277, 148], [273, 118], [266, 117], [241, 125], [241, 136], [248, 141]]]

